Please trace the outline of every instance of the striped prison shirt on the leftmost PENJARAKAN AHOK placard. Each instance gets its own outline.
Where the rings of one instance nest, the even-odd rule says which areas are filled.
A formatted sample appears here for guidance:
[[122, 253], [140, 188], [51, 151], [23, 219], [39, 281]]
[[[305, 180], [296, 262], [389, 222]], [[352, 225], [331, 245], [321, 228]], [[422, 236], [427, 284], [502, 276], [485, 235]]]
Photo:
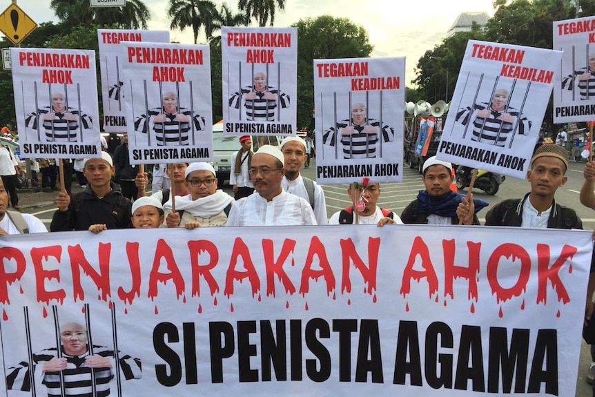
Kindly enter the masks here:
[[[43, 120], [43, 115], [53, 112], [53, 120]], [[66, 113], [72, 113], [76, 120], [67, 120]], [[92, 128], [92, 119], [85, 113], [80, 113], [75, 108], [68, 107], [68, 112], [55, 112], [50, 106], [43, 107], [36, 112], [30, 113], [25, 118], [25, 126], [37, 130], [37, 124], [43, 127], [47, 142], [77, 142], [79, 138], [79, 120], [81, 120], [84, 129]], [[52, 128], [53, 124], [53, 128]]]

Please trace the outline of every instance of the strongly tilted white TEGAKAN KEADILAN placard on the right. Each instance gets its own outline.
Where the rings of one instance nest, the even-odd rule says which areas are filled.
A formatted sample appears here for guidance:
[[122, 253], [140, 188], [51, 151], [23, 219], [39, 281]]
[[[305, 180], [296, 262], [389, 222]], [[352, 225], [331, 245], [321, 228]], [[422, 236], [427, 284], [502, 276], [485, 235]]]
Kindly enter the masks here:
[[561, 57], [469, 40], [436, 157], [525, 178]]

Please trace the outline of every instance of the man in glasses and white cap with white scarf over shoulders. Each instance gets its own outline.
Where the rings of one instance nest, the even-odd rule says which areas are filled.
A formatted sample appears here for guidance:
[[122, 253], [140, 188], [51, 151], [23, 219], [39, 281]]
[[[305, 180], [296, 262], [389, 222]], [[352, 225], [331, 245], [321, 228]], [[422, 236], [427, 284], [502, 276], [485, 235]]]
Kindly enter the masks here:
[[235, 200], [217, 190], [215, 168], [208, 163], [192, 163], [186, 168], [186, 184], [190, 194], [175, 197], [175, 212], [171, 199], [163, 206], [167, 227], [225, 226]]

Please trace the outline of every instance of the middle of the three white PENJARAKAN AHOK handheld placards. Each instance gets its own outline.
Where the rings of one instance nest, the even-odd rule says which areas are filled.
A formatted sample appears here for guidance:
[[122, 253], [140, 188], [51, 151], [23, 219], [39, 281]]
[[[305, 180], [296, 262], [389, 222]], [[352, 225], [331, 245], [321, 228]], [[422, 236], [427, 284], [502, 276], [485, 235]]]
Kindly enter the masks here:
[[208, 46], [122, 41], [130, 164], [213, 159]]

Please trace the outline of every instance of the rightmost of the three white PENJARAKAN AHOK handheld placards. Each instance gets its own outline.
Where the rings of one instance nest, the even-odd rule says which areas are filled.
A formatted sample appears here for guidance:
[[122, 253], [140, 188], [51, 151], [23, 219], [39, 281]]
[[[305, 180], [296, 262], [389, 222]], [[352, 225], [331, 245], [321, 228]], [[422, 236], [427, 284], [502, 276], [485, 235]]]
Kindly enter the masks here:
[[224, 135], [295, 135], [298, 29], [221, 29]]

